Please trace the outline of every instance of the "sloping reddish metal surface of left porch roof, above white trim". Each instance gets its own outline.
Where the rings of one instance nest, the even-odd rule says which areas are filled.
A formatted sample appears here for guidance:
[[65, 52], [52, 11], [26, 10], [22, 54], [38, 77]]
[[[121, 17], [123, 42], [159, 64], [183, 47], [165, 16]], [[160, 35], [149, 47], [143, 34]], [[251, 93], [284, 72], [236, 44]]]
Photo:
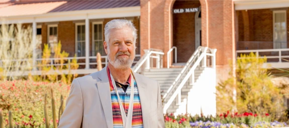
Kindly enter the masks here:
[[140, 6], [140, 1], [10, 1], [0, 4], [0, 17], [17, 17], [59, 12], [112, 9]]

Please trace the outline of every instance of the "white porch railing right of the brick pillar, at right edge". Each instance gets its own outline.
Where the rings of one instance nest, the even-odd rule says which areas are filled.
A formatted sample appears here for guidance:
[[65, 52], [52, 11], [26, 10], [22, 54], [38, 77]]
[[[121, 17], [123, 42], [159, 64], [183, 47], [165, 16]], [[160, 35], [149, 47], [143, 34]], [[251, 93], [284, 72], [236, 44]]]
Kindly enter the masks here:
[[289, 52], [289, 49], [259, 49], [259, 50], [237, 50], [236, 51], [236, 58], [241, 58], [237, 57], [238, 53], [256, 53], [256, 56], [258, 58], [264, 58], [264, 56], [259, 56], [260, 52], [278, 52], [278, 56], [266, 56], [266, 58], [278, 58], [278, 62], [282, 62], [282, 58], [289, 58], [288, 55], [282, 56], [282, 52]]

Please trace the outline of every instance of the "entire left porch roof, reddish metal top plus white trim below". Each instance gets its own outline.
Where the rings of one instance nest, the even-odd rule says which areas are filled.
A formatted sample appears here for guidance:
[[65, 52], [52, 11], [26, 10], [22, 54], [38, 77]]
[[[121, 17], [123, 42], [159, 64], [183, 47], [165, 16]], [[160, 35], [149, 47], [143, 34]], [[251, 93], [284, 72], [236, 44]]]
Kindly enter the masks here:
[[0, 3], [0, 24], [43, 23], [140, 16], [140, 0], [11, 0]]

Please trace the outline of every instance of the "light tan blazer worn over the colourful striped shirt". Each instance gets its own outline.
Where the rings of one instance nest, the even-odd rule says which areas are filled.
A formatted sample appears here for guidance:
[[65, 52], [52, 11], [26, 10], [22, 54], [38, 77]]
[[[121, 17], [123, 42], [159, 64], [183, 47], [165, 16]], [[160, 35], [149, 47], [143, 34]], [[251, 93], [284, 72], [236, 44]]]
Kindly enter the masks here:
[[[144, 128], [164, 127], [157, 81], [133, 73], [138, 86]], [[107, 68], [72, 81], [58, 128], [113, 128], [111, 91]]]

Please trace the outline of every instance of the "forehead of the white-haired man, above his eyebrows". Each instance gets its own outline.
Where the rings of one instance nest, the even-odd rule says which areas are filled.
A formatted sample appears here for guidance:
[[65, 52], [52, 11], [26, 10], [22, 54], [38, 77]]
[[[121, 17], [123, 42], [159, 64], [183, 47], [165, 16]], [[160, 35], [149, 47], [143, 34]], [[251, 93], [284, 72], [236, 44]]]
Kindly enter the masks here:
[[121, 29], [112, 29], [110, 32], [110, 41], [113, 40], [133, 40], [133, 31], [129, 27]]

